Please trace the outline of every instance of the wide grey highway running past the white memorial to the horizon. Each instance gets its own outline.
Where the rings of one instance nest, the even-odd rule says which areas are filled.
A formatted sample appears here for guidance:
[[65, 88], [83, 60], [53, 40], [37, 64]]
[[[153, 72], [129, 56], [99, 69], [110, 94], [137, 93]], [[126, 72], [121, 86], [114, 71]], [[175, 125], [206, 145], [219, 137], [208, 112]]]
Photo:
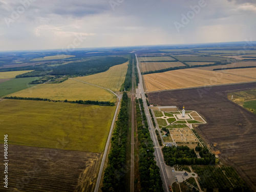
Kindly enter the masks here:
[[161, 147], [159, 146], [159, 143], [158, 143], [158, 140], [157, 140], [157, 136], [156, 136], [156, 133], [155, 133], [155, 130], [154, 130], [154, 126], [153, 126], [153, 122], [151, 120], [151, 115], [150, 115], [150, 112], [148, 110], [148, 106], [146, 104], [146, 97], [145, 97], [145, 92], [144, 92], [144, 89], [143, 89], [143, 81], [142, 81], [142, 75], [141, 75], [141, 72], [140, 72], [140, 68], [139, 68], [139, 61], [138, 61], [138, 58], [137, 58], [137, 54], [136, 55], [136, 60], [137, 60], [137, 70], [138, 70], [138, 74], [139, 74], [139, 85], [138, 85], [138, 91], [141, 95], [141, 98], [143, 100], [143, 105], [144, 105], [144, 108], [145, 108], [145, 114], [146, 114], [146, 118], [147, 118], [147, 122], [148, 122], [148, 127], [150, 129], [150, 135], [151, 135], [151, 138], [153, 140], [153, 144], [154, 144], [154, 148], [155, 148], [155, 155], [156, 155], [156, 161], [157, 161], [157, 165], [159, 166], [160, 168], [160, 175], [161, 175], [161, 178], [162, 178], [162, 181], [163, 181], [163, 188], [164, 188], [164, 191], [169, 191], [169, 185], [171, 185], [173, 183], [173, 181], [175, 181], [175, 177], [173, 174], [169, 174], [169, 179], [168, 179], [168, 176], [167, 176], [167, 172], [166, 172], [166, 165], [165, 165], [165, 162], [164, 162], [164, 159], [163, 159], [163, 155], [162, 155], [162, 150], [161, 150]]

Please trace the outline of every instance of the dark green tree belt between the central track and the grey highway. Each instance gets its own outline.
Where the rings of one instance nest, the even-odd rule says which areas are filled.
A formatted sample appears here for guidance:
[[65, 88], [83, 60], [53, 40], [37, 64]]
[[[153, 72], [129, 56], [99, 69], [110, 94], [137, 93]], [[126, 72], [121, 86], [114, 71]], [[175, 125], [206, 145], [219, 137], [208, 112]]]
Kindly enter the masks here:
[[136, 120], [139, 140], [139, 173], [141, 191], [163, 191], [160, 169], [154, 160], [154, 145], [148, 130], [142, 99], [139, 99], [139, 102], [136, 99]]

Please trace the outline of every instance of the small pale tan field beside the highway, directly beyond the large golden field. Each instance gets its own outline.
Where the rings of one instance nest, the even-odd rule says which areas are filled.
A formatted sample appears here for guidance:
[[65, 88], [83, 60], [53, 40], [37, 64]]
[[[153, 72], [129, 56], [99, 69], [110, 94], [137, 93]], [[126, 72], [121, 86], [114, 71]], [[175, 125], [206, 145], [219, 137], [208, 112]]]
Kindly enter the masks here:
[[140, 62], [141, 72], [185, 66], [182, 62]]

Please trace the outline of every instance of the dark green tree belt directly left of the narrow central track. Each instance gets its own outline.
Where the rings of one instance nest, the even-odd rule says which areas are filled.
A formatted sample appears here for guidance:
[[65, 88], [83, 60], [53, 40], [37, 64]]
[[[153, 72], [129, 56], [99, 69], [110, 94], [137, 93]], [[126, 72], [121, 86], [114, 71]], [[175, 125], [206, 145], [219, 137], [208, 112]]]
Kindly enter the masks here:
[[120, 112], [111, 138], [109, 161], [104, 172], [103, 187], [101, 188], [103, 192], [125, 190], [128, 119], [128, 96], [124, 92]]

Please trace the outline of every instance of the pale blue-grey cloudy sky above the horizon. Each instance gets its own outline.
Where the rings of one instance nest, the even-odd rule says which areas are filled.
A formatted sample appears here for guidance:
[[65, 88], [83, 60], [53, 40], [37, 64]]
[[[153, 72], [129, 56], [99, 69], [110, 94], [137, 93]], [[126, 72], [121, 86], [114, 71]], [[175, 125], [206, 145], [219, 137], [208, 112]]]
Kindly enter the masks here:
[[255, 0], [0, 0], [0, 51], [256, 40]]

